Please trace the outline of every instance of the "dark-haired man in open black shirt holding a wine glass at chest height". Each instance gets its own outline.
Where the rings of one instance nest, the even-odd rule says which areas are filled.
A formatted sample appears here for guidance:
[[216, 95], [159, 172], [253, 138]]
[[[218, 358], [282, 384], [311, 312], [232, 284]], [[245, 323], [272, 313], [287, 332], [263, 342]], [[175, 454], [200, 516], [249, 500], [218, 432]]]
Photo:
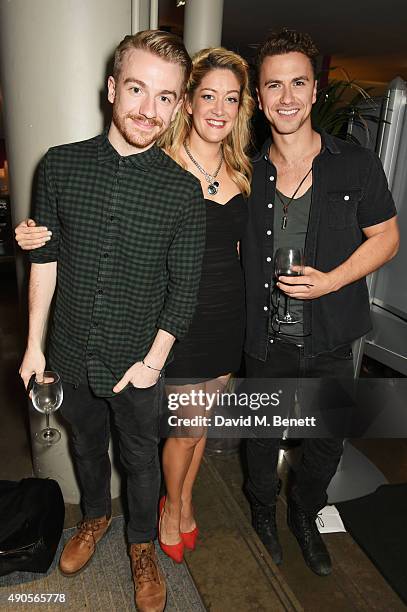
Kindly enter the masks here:
[[[313, 41], [284, 30], [258, 53], [258, 99], [272, 138], [254, 160], [249, 225], [242, 245], [249, 378], [353, 376], [351, 343], [371, 326], [366, 275], [398, 249], [396, 211], [377, 156], [312, 128]], [[299, 277], [273, 282], [275, 248], [304, 249]], [[279, 293], [280, 300], [275, 295]], [[282, 325], [288, 296], [296, 324]], [[253, 525], [281, 563], [275, 505], [280, 441], [251, 438], [246, 490]], [[288, 499], [288, 523], [318, 575], [331, 561], [315, 524], [342, 454], [342, 440], [306, 439]]]

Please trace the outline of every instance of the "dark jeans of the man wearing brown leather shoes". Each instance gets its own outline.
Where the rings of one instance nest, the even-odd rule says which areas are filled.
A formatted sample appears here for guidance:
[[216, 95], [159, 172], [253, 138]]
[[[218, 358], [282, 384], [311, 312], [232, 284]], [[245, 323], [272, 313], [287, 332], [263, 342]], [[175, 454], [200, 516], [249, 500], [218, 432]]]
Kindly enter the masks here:
[[160, 488], [159, 418], [164, 381], [148, 389], [126, 389], [96, 397], [88, 385], [64, 384], [61, 413], [72, 428], [72, 452], [87, 518], [110, 515], [110, 414], [119, 434], [120, 459], [127, 474], [130, 544], [156, 536]]

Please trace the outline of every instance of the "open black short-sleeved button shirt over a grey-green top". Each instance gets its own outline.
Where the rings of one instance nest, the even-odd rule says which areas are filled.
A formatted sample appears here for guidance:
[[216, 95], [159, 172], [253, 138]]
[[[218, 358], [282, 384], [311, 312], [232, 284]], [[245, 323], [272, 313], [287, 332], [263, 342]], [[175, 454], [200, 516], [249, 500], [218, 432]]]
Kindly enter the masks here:
[[[312, 204], [305, 240], [305, 264], [329, 272], [362, 244], [362, 229], [396, 214], [380, 159], [358, 145], [321, 134], [313, 162]], [[268, 158], [271, 140], [253, 159], [249, 223], [242, 241], [247, 329], [245, 351], [267, 356], [273, 221], [277, 171]], [[304, 354], [316, 356], [350, 344], [371, 329], [366, 279], [304, 301]]]

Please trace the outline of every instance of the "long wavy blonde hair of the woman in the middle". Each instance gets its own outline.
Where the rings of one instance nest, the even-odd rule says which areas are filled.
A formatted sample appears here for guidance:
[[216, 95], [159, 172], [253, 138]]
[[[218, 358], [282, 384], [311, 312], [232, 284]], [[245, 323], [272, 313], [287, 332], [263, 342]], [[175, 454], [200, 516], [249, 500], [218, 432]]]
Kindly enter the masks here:
[[[232, 180], [246, 197], [250, 195], [252, 166], [246, 154], [250, 145], [250, 118], [254, 101], [249, 89], [247, 62], [223, 47], [202, 49], [192, 58], [192, 71], [187, 83], [185, 99], [192, 102], [196, 89], [211, 70], [230, 70], [240, 84], [239, 110], [232, 131], [223, 141], [223, 157]], [[157, 143], [181, 166], [185, 167], [180, 150], [192, 128], [191, 115], [185, 103], [177, 113], [168, 130]]]

